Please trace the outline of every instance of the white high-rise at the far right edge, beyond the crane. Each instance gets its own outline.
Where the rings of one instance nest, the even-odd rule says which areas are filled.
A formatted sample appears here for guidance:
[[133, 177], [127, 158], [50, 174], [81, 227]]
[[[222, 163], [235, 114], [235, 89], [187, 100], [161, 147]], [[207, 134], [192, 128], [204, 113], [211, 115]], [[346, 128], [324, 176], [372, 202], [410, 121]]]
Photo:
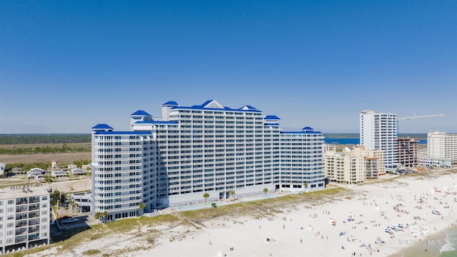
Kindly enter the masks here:
[[427, 154], [431, 158], [448, 158], [452, 164], [457, 164], [457, 133], [428, 133]]

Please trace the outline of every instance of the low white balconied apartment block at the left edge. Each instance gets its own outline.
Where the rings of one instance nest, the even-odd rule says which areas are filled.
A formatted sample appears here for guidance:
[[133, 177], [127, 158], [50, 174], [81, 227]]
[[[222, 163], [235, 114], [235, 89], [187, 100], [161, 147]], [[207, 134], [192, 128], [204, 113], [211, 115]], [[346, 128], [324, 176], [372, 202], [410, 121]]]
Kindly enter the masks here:
[[40, 187], [0, 191], [0, 247], [10, 253], [49, 243], [50, 193]]

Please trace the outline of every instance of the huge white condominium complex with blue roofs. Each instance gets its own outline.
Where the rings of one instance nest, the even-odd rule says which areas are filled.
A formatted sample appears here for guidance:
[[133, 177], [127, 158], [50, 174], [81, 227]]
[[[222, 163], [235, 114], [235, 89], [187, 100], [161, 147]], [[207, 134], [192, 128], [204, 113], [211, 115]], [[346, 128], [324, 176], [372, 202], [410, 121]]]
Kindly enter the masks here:
[[131, 131], [92, 128], [92, 215], [109, 219], [185, 203], [261, 193], [324, 188], [323, 134], [281, 131], [277, 116], [252, 106], [231, 109], [210, 100], [162, 105], [162, 118], [130, 116]]

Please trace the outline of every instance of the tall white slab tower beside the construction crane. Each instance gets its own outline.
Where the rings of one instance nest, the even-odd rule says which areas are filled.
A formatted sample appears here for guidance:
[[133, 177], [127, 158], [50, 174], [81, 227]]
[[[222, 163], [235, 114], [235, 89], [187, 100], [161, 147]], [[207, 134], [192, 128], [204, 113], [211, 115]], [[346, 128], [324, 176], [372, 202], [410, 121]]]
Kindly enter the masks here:
[[398, 117], [397, 114], [366, 110], [360, 113], [360, 143], [366, 150], [384, 151], [384, 167], [398, 167]]

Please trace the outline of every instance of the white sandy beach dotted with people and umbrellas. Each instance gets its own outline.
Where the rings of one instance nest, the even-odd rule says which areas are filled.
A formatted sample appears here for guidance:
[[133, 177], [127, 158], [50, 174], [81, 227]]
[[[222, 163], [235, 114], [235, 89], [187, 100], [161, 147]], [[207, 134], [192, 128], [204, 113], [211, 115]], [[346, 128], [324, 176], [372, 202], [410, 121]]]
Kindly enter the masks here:
[[[154, 248], [121, 256], [402, 256], [407, 248], [424, 246], [427, 236], [457, 224], [457, 173], [340, 186], [351, 189], [351, 196], [320, 205], [303, 202], [262, 218], [233, 213], [195, 226], [156, 228], [167, 232], [156, 238]], [[74, 253], [98, 247], [101, 256], [141, 245], [122, 237], [100, 238]]]

